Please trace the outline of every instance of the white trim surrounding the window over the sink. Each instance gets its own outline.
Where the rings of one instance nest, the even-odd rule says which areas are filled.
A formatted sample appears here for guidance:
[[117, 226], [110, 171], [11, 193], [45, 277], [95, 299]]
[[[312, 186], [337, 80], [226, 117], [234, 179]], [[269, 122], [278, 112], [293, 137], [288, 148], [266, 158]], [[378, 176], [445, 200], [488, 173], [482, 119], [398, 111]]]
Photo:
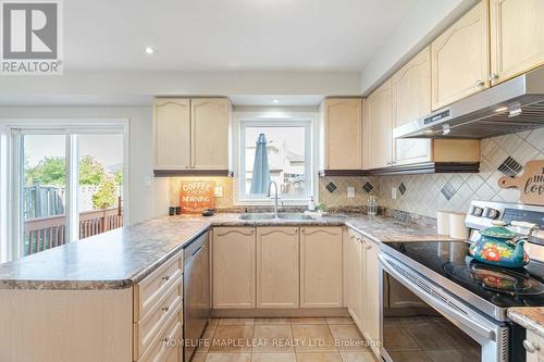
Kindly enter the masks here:
[[[242, 187], [244, 183], [244, 175], [242, 174], [243, 163], [242, 160], [242, 147], [244, 145], [244, 135], [242, 135], [242, 128], [244, 125], [259, 125], [262, 122], [274, 122], [277, 126], [292, 125], [294, 122], [308, 124], [307, 136], [310, 135], [309, 145], [306, 145], [306, 152], [309, 154], [309, 165], [306, 165], [306, 170], [309, 171], [309, 187], [310, 191], [308, 196], [313, 196], [316, 201], [318, 200], [318, 157], [319, 157], [319, 125], [318, 125], [318, 114], [312, 112], [234, 112], [233, 113], [233, 143], [234, 143], [234, 205], [271, 205], [273, 204], [272, 198], [265, 199], [243, 199], [240, 198]], [[281, 205], [307, 205], [308, 198], [305, 199], [279, 199]]]

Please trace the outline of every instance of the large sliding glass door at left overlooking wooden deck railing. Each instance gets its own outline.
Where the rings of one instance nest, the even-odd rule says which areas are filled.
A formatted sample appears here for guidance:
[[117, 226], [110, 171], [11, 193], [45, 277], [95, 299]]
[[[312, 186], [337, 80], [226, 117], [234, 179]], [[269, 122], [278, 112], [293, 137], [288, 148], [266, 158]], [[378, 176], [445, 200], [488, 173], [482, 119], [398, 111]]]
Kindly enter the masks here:
[[116, 125], [11, 128], [12, 258], [122, 226], [125, 137]]

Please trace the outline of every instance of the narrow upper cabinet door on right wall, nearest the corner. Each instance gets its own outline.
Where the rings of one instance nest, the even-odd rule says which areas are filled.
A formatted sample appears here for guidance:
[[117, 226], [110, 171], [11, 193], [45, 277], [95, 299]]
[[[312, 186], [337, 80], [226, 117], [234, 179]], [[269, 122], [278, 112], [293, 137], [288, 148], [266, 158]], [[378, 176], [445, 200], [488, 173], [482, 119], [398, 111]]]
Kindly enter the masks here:
[[393, 151], [391, 79], [369, 96], [366, 110], [370, 142], [366, 168], [386, 167], [391, 165]]

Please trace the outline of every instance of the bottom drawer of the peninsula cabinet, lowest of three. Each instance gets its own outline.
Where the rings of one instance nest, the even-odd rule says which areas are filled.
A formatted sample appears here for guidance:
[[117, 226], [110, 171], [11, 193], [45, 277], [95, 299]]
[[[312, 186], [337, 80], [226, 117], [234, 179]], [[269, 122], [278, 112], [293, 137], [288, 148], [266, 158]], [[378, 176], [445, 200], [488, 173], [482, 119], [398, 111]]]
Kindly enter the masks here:
[[[182, 349], [182, 308], [180, 307], [138, 361], [162, 362], [168, 355], [172, 354], [172, 349], [177, 349], [180, 355], [180, 350]], [[176, 342], [169, 344], [169, 340], [176, 340]]]

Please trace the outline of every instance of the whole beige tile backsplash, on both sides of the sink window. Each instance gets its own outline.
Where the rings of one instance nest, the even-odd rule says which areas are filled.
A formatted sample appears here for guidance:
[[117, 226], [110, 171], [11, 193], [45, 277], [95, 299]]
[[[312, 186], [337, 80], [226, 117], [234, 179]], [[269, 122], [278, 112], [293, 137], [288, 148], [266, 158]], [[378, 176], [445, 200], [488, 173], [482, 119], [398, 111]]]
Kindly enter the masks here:
[[[518, 189], [502, 189], [497, 180], [503, 175], [519, 176], [527, 161], [544, 159], [544, 128], [483, 139], [481, 151], [478, 174], [320, 177], [319, 199], [332, 210], [360, 211], [368, 195], [374, 194], [381, 207], [428, 217], [436, 217], [438, 210], [466, 212], [473, 199], [519, 202]], [[215, 208], [233, 209], [234, 178], [190, 178], [214, 180], [215, 186], [223, 188], [223, 197], [215, 198]], [[181, 180], [181, 177], [170, 179], [172, 205], [180, 201]], [[348, 187], [354, 187], [354, 197], [348, 197]], [[396, 199], [392, 198], [392, 189]]]

